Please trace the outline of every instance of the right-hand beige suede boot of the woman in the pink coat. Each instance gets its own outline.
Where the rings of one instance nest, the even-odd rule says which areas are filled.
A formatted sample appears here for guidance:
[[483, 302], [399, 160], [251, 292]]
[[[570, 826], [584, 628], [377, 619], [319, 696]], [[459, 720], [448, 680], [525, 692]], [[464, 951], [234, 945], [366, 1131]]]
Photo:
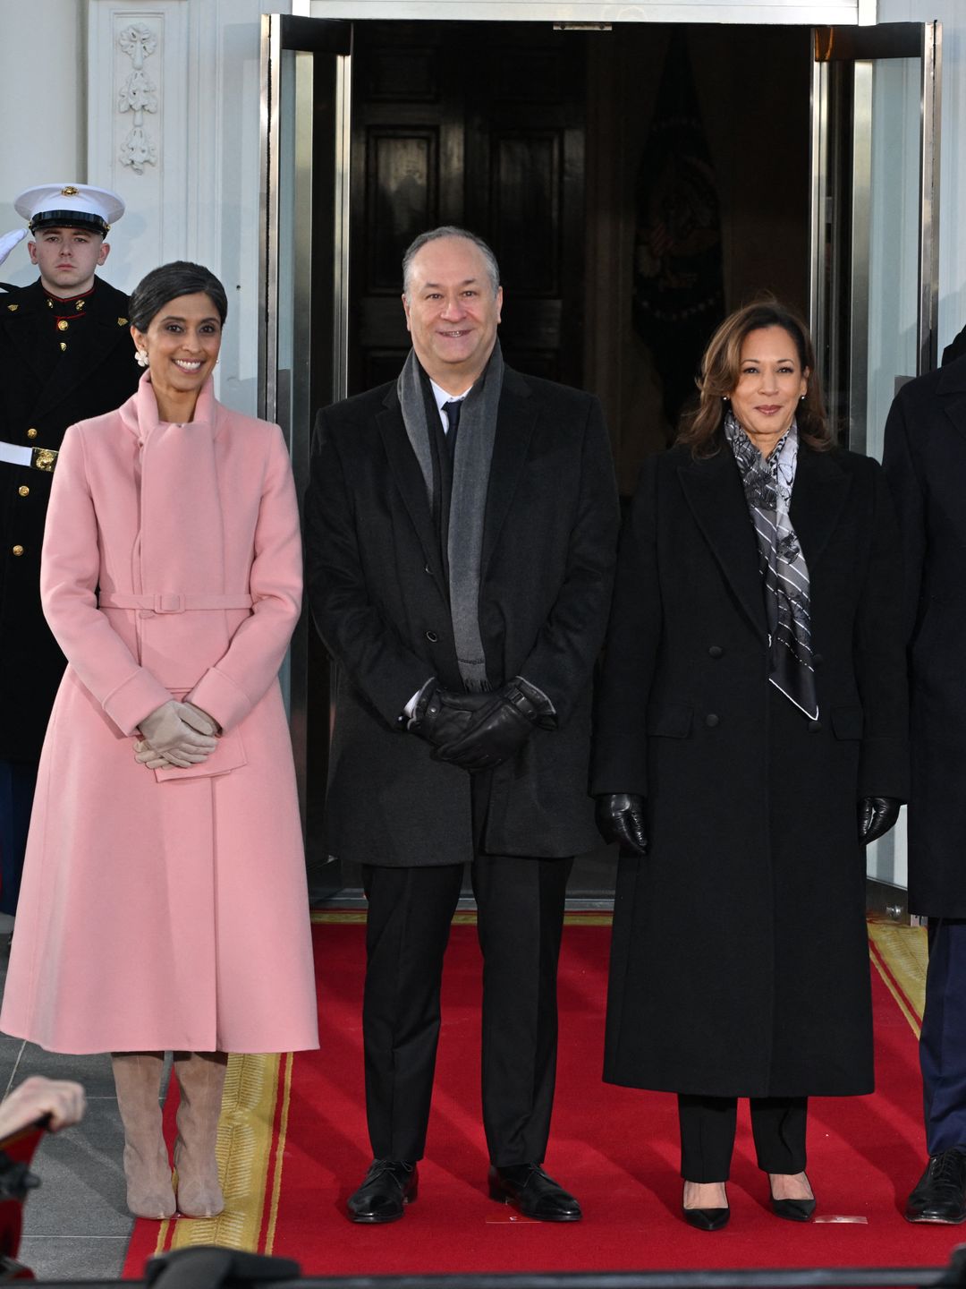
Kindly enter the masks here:
[[224, 1208], [215, 1142], [227, 1065], [227, 1052], [174, 1054], [182, 1089], [174, 1167], [178, 1170], [178, 1210], [184, 1217], [218, 1217]]

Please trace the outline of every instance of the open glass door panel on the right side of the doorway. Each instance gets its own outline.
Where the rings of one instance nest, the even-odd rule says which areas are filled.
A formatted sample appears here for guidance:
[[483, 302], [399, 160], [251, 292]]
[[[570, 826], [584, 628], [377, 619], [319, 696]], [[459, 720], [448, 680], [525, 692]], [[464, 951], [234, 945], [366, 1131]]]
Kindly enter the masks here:
[[[881, 458], [895, 391], [936, 365], [942, 28], [814, 39], [811, 325], [841, 442]], [[867, 871], [907, 884], [904, 811]]]

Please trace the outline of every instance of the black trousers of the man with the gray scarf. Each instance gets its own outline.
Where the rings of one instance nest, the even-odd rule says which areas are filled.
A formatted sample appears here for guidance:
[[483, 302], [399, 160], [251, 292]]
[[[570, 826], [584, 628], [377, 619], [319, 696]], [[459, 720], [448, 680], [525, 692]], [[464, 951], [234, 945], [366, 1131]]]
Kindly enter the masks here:
[[[483, 1125], [498, 1167], [541, 1163], [556, 1074], [556, 963], [572, 860], [478, 855]], [[363, 866], [366, 1114], [376, 1159], [422, 1158], [439, 986], [462, 865]]]

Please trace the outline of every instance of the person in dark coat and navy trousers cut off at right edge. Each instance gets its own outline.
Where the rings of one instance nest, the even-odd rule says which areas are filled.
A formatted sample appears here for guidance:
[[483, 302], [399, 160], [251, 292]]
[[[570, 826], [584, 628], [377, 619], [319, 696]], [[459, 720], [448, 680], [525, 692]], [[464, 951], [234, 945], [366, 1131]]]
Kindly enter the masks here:
[[[957, 351], [960, 357], [953, 354]], [[929, 918], [920, 1036], [929, 1164], [911, 1222], [966, 1221], [966, 347], [903, 385], [882, 456], [905, 552], [912, 706], [909, 911]]]

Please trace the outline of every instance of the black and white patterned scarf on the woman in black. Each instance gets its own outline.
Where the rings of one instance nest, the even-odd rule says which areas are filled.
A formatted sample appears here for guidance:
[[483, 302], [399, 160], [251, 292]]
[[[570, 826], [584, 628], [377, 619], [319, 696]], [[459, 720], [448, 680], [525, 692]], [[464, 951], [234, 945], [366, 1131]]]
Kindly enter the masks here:
[[788, 514], [799, 459], [799, 429], [792, 422], [768, 458], [755, 447], [730, 411], [724, 431], [738, 463], [759, 544], [772, 650], [769, 679], [806, 717], [818, 721], [809, 570]]

